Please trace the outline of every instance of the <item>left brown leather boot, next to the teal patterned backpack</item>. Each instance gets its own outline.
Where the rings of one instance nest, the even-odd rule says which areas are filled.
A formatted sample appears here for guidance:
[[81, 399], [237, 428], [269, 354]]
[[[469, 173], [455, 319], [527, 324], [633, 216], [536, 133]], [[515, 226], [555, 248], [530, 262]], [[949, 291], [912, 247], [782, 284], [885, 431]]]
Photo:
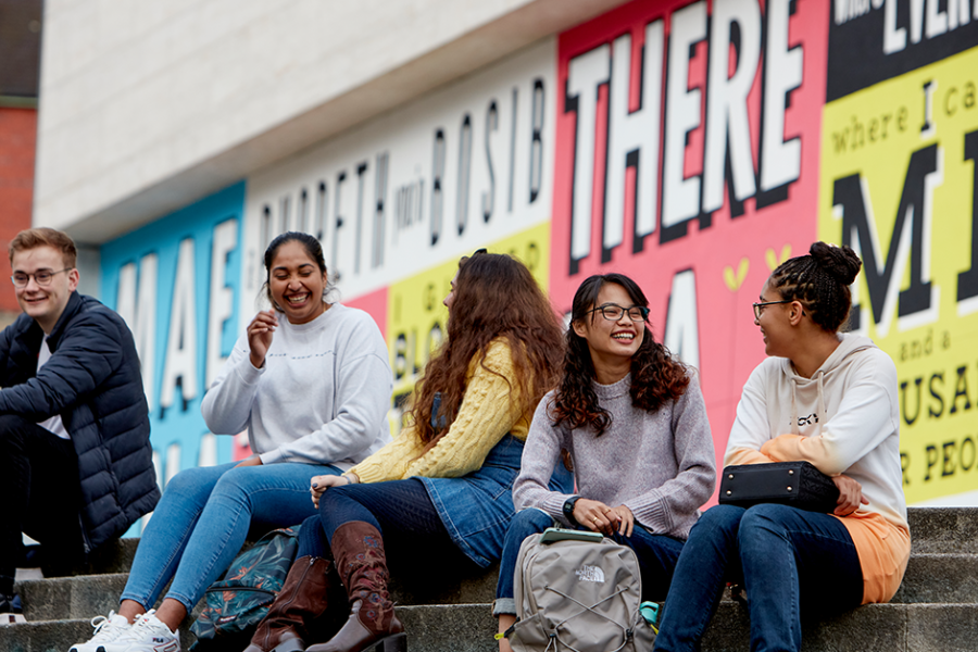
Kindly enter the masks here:
[[303, 639], [309, 635], [309, 625], [326, 613], [329, 591], [338, 579], [329, 560], [314, 556], [296, 560], [244, 652], [305, 650]]

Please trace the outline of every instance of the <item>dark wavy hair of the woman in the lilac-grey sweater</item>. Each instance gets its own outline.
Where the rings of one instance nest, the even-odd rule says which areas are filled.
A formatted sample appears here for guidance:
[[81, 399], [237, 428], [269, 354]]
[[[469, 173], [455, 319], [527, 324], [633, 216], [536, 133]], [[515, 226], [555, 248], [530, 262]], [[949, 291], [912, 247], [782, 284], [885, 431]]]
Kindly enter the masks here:
[[[607, 284], [620, 286], [632, 304], [649, 306], [641, 288], [624, 274], [591, 276], [577, 288], [570, 309], [570, 319], [588, 318], [588, 312], [598, 305], [598, 293]], [[597, 312], [590, 313], [593, 322]], [[567, 329], [567, 349], [564, 353], [564, 374], [550, 406], [551, 417], [557, 426], [570, 429], [590, 426], [601, 436], [611, 425], [611, 414], [598, 402], [594, 392], [594, 364], [588, 341]], [[678, 399], [689, 386], [686, 366], [674, 360], [669, 350], [652, 338], [647, 323], [642, 343], [631, 358], [631, 404], [648, 412], [655, 412], [666, 401]]]

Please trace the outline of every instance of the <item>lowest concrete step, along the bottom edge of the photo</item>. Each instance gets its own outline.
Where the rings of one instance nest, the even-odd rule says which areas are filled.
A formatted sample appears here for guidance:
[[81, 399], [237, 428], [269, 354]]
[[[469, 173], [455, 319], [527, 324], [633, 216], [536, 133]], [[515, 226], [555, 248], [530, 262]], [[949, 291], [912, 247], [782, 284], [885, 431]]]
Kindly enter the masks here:
[[[488, 604], [400, 606], [411, 652], [494, 652], [496, 620]], [[803, 629], [805, 652], [964, 652], [978, 648], [978, 605], [870, 604]], [[66, 652], [87, 640], [87, 619], [42, 620], [0, 627], [0, 650]], [[747, 610], [720, 604], [706, 630], [703, 652], [750, 648]], [[184, 650], [192, 637], [181, 636]]]

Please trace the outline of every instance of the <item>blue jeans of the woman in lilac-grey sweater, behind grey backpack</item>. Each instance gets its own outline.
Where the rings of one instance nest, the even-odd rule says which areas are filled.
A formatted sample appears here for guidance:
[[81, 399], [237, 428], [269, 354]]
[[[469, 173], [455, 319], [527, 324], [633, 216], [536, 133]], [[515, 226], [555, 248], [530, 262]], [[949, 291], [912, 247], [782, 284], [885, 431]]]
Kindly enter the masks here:
[[[492, 615], [515, 614], [513, 581], [516, 573], [516, 557], [523, 540], [553, 527], [553, 518], [541, 510], [529, 509], [517, 512], [510, 522], [506, 541], [503, 544], [502, 562], [499, 566], [499, 582], [496, 585], [496, 604]], [[682, 541], [663, 535], [652, 535], [636, 524], [630, 537], [615, 534], [613, 539], [635, 551], [642, 574], [642, 600], [662, 600], [669, 590], [673, 570], [682, 551]]]

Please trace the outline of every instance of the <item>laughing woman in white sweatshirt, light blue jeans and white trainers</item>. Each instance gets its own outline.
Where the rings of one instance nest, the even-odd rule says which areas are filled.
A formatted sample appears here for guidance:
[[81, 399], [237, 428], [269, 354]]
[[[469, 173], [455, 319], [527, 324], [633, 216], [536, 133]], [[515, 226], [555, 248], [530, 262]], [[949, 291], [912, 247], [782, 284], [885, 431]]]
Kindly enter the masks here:
[[326, 301], [319, 242], [283, 234], [264, 262], [274, 310], [248, 325], [201, 404], [213, 432], [247, 429], [254, 455], [170, 480], [142, 532], [120, 613], [93, 620], [95, 636], [71, 652], [178, 652], [177, 627], [228, 567], [252, 522], [279, 527], [315, 515], [311, 477], [339, 475], [390, 441], [384, 337], [366, 313]]

